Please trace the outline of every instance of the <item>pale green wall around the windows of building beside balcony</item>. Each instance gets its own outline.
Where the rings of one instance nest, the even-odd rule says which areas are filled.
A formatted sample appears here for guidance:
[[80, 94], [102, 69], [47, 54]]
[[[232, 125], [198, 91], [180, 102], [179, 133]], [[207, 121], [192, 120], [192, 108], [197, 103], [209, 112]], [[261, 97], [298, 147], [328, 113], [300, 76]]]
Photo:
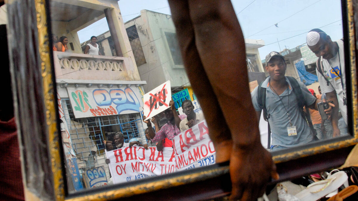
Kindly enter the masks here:
[[170, 15], [141, 10], [141, 16], [125, 24], [126, 28], [136, 25], [143, 47], [146, 64], [138, 67], [141, 80], [146, 80], [145, 92], [170, 80], [171, 87], [189, 82], [183, 65], [175, 65], [166, 40], [165, 32], [175, 33]]

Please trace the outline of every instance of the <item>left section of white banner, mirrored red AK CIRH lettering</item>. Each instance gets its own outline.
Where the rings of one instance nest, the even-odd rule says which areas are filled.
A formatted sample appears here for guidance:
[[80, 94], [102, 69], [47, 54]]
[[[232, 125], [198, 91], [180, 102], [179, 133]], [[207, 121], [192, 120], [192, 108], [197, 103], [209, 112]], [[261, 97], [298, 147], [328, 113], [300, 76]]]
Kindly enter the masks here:
[[140, 180], [147, 177], [173, 173], [175, 157], [173, 148], [165, 147], [157, 151], [156, 147], [124, 147], [106, 151], [106, 157], [113, 184]]

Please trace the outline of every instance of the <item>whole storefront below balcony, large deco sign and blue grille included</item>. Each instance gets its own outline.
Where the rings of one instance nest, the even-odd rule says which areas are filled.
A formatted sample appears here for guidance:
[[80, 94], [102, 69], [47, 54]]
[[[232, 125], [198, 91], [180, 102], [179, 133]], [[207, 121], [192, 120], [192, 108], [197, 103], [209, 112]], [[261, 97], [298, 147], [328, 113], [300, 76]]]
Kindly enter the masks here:
[[125, 85], [113, 82], [58, 84], [62, 141], [72, 177], [68, 179], [73, 182], [74, 190], [92, 187], [86, 182], [84, 173], [89, 169], [103, 166], [104, 178], [110, 179], [103, 141], [108, 140], [111, 133], [122, 132], [125, 142], [134, 137], [145, 138], [139, 111], [143, 106], [143, 81], [131, 81]]

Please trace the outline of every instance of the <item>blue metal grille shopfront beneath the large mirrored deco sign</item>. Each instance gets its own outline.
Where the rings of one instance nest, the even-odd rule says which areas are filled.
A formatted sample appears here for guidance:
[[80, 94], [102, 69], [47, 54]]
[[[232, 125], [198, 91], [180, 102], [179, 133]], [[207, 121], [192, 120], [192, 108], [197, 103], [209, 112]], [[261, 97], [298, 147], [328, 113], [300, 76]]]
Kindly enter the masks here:
[[[81, 178], [84, 170], [104, 166], [107, 180], [109, 180], [110, 172], [105, 162], [103, 140], [110, 137], [108, 133], [116, 131], [124, 134], [125, 142], [135, 137], [143, 138], [144, 129], [140, 113], [74, 118], [69, 99], [63, 98], [62, 105]], [[83, 178], [81, 182], [85, 188]]]

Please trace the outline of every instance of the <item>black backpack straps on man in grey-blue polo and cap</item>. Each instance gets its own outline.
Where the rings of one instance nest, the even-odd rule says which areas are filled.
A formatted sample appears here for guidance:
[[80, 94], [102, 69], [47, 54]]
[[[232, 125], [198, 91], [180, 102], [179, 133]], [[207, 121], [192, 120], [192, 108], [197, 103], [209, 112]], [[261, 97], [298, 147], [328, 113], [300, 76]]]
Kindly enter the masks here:
[[[313, 133], [313, 139], [318, 140], [317, 132], [313, 128], [311, 117], [310, 117], [310, 114], [309, 114], [309, 111], [308, 111], [308, 106], [306, 105], [306, 100], [303, 97], [302, 90], [300, 88], [299, 83], [293, 77], [290, 77], [290, 76], [286, 76], [286, 77], [291, 83], [293, 93], [295, 93], [295, 95], [296, 95], [297, 107], [300, 110], [302, 118], [309, 124], [309, 127], [311, 128], [311, 131]], [[264, 81], [262, 81], [258, 85], [258, 88], [257, 88], [257, 103], [262, 108], [262, 110], [263, 110], [263, 118], [265, 119], [265, 121], [267, 121], [267, 124], [268, 124], [268, 131], [269, 132], [268, 132], [267, 148], [269, 149], [270, 144], [271, 144], [271, 129], [270, 129], [269, 121], [268, 121], [268, 119], [270, 118], [270, 114], [267, 113], [267, 109], [266, 109], [266, 88], [261, 87], [263, 82]], [[303, 110], [304, 106], [306, 106], [306, 112]]]

